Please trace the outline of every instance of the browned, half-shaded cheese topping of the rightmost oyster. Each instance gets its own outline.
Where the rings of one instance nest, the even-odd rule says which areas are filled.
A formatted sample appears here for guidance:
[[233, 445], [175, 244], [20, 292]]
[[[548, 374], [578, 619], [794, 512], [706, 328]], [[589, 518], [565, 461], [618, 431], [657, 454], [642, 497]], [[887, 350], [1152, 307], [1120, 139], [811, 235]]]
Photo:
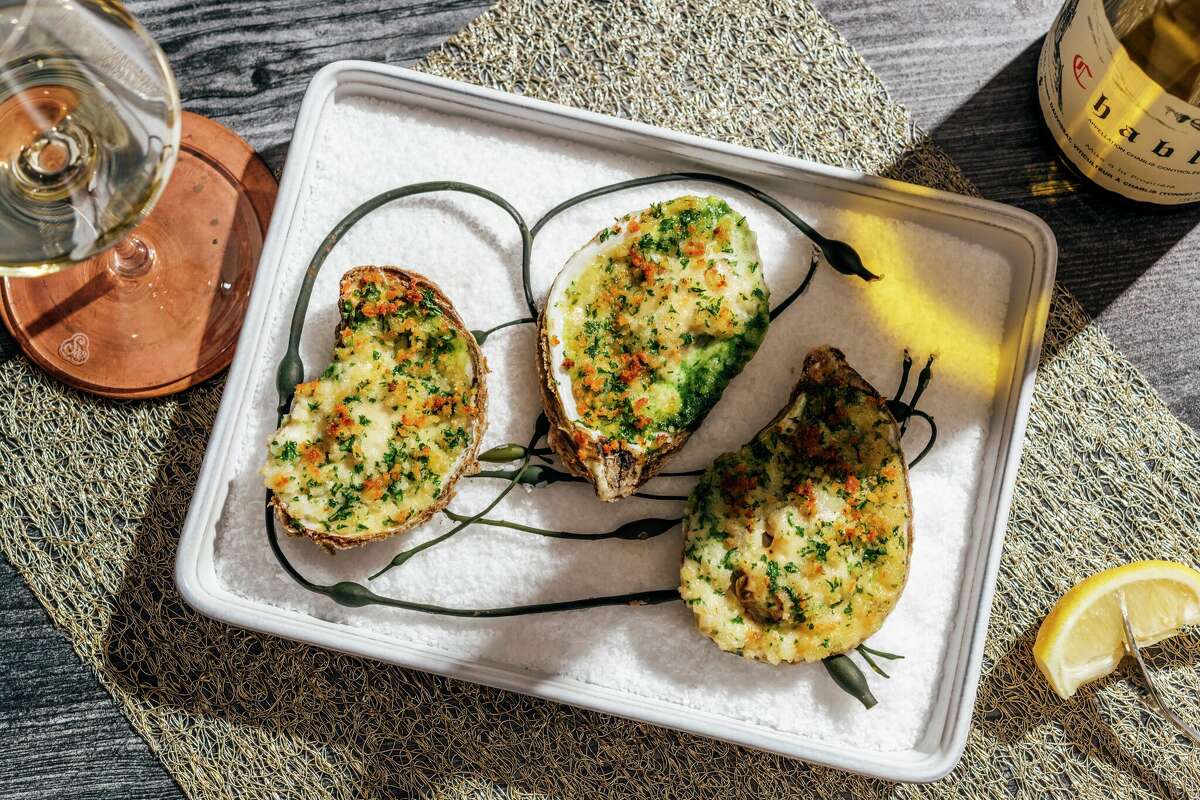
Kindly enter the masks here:
[[679, 594], [748, 658], [817, 661], [883, 624], [908, 571], [899, 431], [883, 401], [814, 386], [689, 498]]

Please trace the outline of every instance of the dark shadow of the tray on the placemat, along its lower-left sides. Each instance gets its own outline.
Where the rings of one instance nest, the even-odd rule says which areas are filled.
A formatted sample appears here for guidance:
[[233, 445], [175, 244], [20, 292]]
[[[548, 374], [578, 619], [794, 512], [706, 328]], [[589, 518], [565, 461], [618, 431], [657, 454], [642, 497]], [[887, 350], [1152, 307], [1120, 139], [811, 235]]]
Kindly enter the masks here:
[[[828, 771], [193, 613], [173, 581], [178, 530], [208, 433], [205, 421], [188, 413], [193, 396], [180, 396], [148, 512], [134, 523], [102, 656], [133, 716], [149, 715], [137, 727], [163, 732], [156, 739], [167, 746], [158, 753], [176, 777], [196, 769], [182, 760], [196, 752], [212, 753], [205, 769], [238, 790], [280, 796], [313, 796], [306, 789], [313, 786], [325, 787], [328, 796], [355, 798], [505, 787], [588, 798], [685, 789], [692, 796], [764, 796], [781, 772], [803, 781]], [[170, 746], [181, 736], [203, 745]], [[174, 753], [179, 763], [172, 763]], [[883, 782], [845, 780], [854, 796], [889, 793]]]

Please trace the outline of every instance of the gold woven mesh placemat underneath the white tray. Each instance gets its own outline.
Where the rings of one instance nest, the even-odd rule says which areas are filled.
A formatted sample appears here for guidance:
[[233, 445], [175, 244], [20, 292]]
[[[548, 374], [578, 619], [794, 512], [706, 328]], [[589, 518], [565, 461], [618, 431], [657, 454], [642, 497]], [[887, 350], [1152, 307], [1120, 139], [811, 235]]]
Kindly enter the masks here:
[[[428, 58], [454, 78], [972, 192], [806, 2], [503, 0]], [[895, 786], [247, 633], [172, 582], [220, 380], [120, 404], [14, 357], [0, 547], [193, 798], [1187, 798], [1200, 759], [1127, 681], [1057, 700], [1030, 646], [1080, 576], [1200, 561], [1200, 439], [1058, 293], [970, 745]], [[910, 589], [910, 591], [914, 590]], [[1176, 699], [1195, 637], [1154, 650]], [[803, 714], [804, 709], [797, 709]]]

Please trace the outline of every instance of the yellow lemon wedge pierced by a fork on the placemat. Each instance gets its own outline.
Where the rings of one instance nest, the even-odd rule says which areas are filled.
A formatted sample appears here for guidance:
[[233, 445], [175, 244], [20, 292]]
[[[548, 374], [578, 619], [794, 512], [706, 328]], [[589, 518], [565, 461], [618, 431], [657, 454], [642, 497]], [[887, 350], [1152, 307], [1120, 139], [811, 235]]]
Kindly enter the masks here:
[[1200, 572], [1189, 566], [1134, 561], [1093, 575], [1055, 603], [1033, 643], [1033, 660], [1060, 697], [1121, 663], [1122, 597], [1139, 646], [1200, 624]]

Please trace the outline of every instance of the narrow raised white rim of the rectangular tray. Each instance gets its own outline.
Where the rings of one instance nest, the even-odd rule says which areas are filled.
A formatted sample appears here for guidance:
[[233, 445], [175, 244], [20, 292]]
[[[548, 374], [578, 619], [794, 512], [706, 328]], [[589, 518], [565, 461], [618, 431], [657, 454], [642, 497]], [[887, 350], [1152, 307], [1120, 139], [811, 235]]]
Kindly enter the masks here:
[[[464, 84], [430, 76], [402, 67], [368, 61], [335, 61], [318, 71], [305, 91], [289, 145], [288, 160], [280, 181], [278, 200], [268, 230], [260, 257], [260, 266], [274, 269], [278, 264], [284, 242], [295, 222], [300, 205], [299, 188], [307, 175], [314, 133], [320, 113], [329, 100], [343, 84], [366, 83], [389, 91], [418, 95], [426, 100], [444, 102], [454, 98], [464, 106], [484, 113], [500, 113], [515, 120], [530, 119], [545, 126], [557, 120], [568, 128], [588, 128], [590, 133], [611, 133], [610, 139], [635, 139], [655, 143], [660, 149], [702, 160], [703, 154], [713, 157], [734, 158], [770, 168], [772, 174], [797, 173], [811, 184], [839, 191], [865, 194], [935, 213], [949, 213], [977, 223], [990, 224], [1010, 234], [1016, 234], [1032, 251], [1028, 309], [1024, 317], [1018, 341], [1018, 357], [1014, 363], [1012, 392], [1003, 417], [1001, 440], [996, 449], [996, 465], [991, 480], [991, 497], [986, 498], [984, 531], [990, 531], [985, 553], [968, 549], [964, 570], [964, 585], [959, 597], [968, 603], [959, 608], [962, 624], [970, 625], [970, 634], [952, 639], [943, 660], [943, 669], [953, 668], [949, 676], [949, 698], [944, 708], [941, 735], [932, 750], [920, 750], [926, 740], [907, 751], [859, 753], [842, 746], [827, 746], [796, 734], [781, 734], [769, 729], [728, 720], [719, 715], [691, 709], [680, 709], [662, 700], [620, 694], [613, 690], [598, 687], [575, 679], [557, 675], [539, 675], [532, 670], [517, 672], [512, 668], [467, 661], [444, 651], [412, 643], [400, 645], [396, 640], [367, 628], [320, 620], [268, 603], [258, 603], [239, 597], [230, 591], [212, 591], [204, 583], [200, 566], [211, 557], [210, 535], [223, 505], [227, 486], [223, 486], [224, 455], [232, 437], [239, 427], [239, 405], [248, 402], [248, 380], [252, 377], [253, 356], [268, 318], [270, 299], [276, 294], [275, 272], [259, 270], [246, 311], [246, 324], [238, 343], [227, 379], [220, 410], [214, 422], [200, 467], [196, 493], [188, 507], [180, 535], [175, 561], [175, 583], [193, 609], [212, 619], [247, 627], [262, 633], [307, 642], [352, 655], [432, 672], [450, 678], [486, 684], [498, 688], [532, 694], [545, 699], [578, 705], [592, 710], [674, 728], [732, 744], [774, 752], [788, 758], [834, 766], [871, 777], [930, 782], [948, 774], [961, 758], [966, 747], [978, 691], [983, 663], [983, 646], [991, 613], [1000, 554], [1003, 547], [1013, 486], [1020, 461], [1024, 434], [1032, 401], [1036, 368], [1040, 355], [1054, 276], [1057, 261], [1057, 245], [1050, 228], [1038, 217], [1012, 206], [904, 184], [886, 178], [865, 175], [854, 170], [830, 167], [790, 156], [763, 152], [740, 145], [732, 145], [667, 128], [611, 118], [592, 112], [548, 103], [520, 95]], [[604, 138], [595, 137], [592, 138]], [[686, 152], [680, 152], [686, 151]], [[725, 169], [725, 172], [728, 172]], [[264, 279], [266, 278], [266, 279]], [[244, 355], [245, 354], [245, 355]], [[1014, 396], [1015, 395], [1015, 396]], [[983, 493], [978, 494], [983, 499]], [[209, 546], [205, 554], [204, 547]], [[971, 545], [974, 547], [977, 545]], [[964, 594], [966, 593], [966, 594]], [[943, 679], [943, 682], [947, 682]], [[943, 692], [944, 693], [944, 692]], [[932, 715], [937, 715], [941, 702], [935, 702]]]

